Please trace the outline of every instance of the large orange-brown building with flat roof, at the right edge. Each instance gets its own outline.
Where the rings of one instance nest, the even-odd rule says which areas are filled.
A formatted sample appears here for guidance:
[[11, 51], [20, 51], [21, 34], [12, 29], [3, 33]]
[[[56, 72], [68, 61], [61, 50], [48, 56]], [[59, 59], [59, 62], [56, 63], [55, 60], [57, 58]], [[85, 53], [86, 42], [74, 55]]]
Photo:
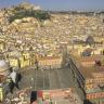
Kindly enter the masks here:
[[83, 90], [86, 99], [95, 104], [104, 104], [104, 65], [96, 64], [103, 55], [74, 57], [77, 68], [75, 77]]

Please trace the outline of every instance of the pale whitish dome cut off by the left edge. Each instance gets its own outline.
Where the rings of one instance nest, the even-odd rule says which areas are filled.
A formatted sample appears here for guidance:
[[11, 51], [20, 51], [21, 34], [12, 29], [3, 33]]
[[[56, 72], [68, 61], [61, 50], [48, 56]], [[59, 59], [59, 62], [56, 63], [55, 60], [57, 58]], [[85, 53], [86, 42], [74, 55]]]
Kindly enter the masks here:
[[0, 75], [8, 76], [9, 75], [9, 63], [5, 61], [0, 61]]

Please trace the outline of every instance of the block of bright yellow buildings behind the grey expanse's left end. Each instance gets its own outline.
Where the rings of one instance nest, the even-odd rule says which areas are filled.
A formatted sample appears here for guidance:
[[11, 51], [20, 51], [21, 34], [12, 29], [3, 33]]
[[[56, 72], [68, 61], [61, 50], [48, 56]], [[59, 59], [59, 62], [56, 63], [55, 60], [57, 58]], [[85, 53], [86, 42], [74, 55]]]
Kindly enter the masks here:
[[10, 66], [17, 67], [17, 68], [24, 68], [31, 65], [35, 65], [36, 55], [35, 53], [30, 53], [28, 51], [24, 52], [10, 52], [8, 53], [8, 61], [10, 63]]

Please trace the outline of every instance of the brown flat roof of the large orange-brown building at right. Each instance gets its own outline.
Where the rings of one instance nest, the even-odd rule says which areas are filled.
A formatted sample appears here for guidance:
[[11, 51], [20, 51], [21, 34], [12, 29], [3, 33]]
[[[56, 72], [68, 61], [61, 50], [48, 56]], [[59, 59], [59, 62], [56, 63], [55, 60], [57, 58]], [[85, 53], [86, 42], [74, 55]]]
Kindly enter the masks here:
[[100, 61], [104, 58], [104, 55], [93, 55], [93, 56], [72, 56], [73, 61], [76, 61], [76, 65], [78, 67], [78, 70], [83, 76], [83, 78], [93, 78], [93, 73], [104, 73], [104, 65], [102, 66], [82, 66], [81, 62], [92, 62], [92, 61]]

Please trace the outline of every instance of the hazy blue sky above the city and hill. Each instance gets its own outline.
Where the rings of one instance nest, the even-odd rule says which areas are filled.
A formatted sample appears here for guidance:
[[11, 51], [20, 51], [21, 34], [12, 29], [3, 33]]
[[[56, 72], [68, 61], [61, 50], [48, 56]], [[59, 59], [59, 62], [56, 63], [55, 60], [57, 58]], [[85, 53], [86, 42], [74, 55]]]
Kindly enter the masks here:
[[104, 0], [0, 0], [0, 8], [28, 1], [44, 10], [104, 10]]

